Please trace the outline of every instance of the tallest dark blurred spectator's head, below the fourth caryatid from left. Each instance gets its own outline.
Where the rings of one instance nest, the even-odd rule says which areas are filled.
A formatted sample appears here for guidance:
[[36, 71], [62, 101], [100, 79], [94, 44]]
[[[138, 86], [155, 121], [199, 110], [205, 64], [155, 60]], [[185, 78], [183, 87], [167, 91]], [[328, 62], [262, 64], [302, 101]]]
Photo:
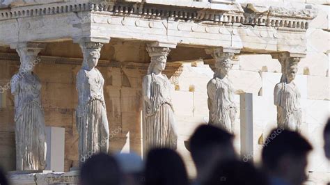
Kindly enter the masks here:
[[197, 170], [194, 184], [203, 184], [218, 161], [237, 159], [233, 134], [218, 127], [206, 124], [199, 126], [189, 142], [189, 150]]

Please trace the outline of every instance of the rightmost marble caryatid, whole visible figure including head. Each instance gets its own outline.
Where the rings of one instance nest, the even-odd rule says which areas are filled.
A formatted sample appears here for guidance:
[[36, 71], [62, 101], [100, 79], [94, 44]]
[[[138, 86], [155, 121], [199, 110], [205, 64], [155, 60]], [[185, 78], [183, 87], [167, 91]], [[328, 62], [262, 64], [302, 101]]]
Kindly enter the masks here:
[[282, 65], [281, 81], [274, 88], [278, 128], [300, 132], [302, 117], [300, 92], [294, 83], [300, 58], [290, 57], [289, 54], [280, 54], [278, 60]]

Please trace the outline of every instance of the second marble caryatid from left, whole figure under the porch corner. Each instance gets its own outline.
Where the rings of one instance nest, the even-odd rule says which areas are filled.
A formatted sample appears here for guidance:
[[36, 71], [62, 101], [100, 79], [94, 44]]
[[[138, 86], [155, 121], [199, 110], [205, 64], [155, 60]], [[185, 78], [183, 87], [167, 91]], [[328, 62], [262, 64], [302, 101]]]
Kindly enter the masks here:
[[76, 110], [79, 132], [79, 159], [84, 162], [92, 154], [108, 152], [109, 124], [104, 102], [104, 79], [95, 67], [100, 58], [102, 43], [82, 42], [84, 61], [77, 74]]

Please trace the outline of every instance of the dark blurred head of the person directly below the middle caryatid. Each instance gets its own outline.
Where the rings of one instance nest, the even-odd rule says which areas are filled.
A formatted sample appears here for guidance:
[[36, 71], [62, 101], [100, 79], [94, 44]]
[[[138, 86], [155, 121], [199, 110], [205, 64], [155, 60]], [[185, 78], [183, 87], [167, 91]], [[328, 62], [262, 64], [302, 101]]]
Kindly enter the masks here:
[[145, 185], [188, 185], [184, 163], [171, 149], [150, 150], [145, 169]]

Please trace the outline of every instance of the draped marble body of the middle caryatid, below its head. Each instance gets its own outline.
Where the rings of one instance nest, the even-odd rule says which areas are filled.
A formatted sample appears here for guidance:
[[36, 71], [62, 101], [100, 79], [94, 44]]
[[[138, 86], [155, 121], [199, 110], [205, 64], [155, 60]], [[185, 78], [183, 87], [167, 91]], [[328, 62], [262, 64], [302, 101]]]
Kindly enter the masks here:
[[147, 101], [143, 102], [144, 151], [154, 147], [170, 147], [173, 150], [177, 148], [178, 136], [171, 103], [171, 83], [165, 74], [162, 75], [164, 78], [157, 77], [153, 73], [147, 75], [151, 77], [151, 104]]

